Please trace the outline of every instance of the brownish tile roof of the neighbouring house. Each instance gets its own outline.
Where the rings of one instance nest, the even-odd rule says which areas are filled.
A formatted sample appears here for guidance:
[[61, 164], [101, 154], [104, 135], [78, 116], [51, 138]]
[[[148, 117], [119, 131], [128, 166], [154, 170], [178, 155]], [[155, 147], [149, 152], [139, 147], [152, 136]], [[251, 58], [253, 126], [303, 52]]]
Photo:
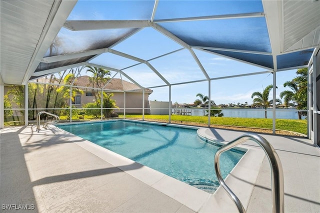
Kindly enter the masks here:
[[[87, 75], [78, 76], [73, 83], [74, 86], [88, 86], [88, 87], [97, 87], [97, 88], [102, 87], [104, 84], [105, 83], [101, 81], [98, 82], [97, 84], [95, 82], [94, 83], [90, 82], [89, 76]], [[109, 82], [107, 83], [105, 89], [120, 90], [120, 91], [142, 91], [140, 87], [126, 80], [122, 80], [122, 83], [121, 83], [121, 79], [119, 78], [109, 79]], [[151, 89], [145, 89], [144, 91], [152, 92]]]

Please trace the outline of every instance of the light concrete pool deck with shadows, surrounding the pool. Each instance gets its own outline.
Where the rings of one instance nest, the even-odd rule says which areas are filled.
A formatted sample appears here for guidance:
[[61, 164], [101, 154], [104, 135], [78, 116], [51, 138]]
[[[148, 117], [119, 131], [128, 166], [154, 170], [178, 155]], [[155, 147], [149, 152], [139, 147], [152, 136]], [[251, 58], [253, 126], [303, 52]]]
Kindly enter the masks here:
[[[0, 129], [0, 206], [27, 212], [236, 212], [219, 187], [206, 193], [57, 127]], [[230, 141], [244, 132], [206, 128]], [[260, 134], [276, 149], [284, 171], [285, 212], [320, 211], [320, 149], [306, 138]], [[226, 178], [247, 212], [271, 212], [271, 174], [258, 145]], [[14, 204], [16, 204], [14, 206]], [[20, 211], [22, 212], [22, 210]]]

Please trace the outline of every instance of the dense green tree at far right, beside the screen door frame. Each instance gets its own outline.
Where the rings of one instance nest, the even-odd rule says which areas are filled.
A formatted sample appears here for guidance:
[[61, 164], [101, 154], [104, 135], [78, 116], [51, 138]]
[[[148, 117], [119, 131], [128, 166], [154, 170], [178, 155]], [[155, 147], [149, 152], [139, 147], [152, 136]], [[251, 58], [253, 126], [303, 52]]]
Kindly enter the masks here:
[[[295, 101], [296, 109], [307, 109], [307, 68], [297, 69], [297, 76], [290, 81], [283, 83], [284, 87], [289, 87], [291, 90], [280, 92], [280, 97], [283, 98], [285, 107], [288, 107], [289, 101]], [[298, 118], [305, 116], [306, 112], [298, 111]]]

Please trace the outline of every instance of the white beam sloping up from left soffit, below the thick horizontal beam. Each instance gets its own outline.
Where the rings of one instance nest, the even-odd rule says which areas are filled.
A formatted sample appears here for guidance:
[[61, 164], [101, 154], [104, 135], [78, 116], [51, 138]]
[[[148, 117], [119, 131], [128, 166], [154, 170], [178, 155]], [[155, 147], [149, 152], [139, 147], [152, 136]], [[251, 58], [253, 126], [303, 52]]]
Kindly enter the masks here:
[[69, 54], [61, 54], [61, 55], [43, 57], [41, 62], [51, 63], [51, 62], [56, 62], [61, 60], [69, 60], [69, 59], [78, 58], [78, 57], [101, 54], [107, 51], [108, 51], [108, 48], [101, 48], [101, 49], [93, 49], [93, 50], [87, 50], [87, 51], [81, 51], [81, 52], [75, 52], [75, 53], [69, 53]]

